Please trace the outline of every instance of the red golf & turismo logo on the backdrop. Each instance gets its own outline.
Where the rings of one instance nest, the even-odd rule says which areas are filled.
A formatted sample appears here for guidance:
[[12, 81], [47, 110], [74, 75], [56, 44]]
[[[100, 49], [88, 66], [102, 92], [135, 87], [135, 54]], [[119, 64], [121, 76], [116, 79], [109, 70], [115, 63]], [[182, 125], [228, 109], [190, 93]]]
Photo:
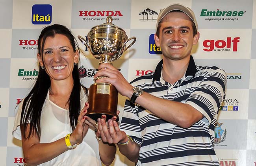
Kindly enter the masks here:
[[[237, 52], [237, 43], [240, 41], [240, 37], [234, 37], [232, 40], [231, 37], [227, 37], [226, 41], [224, 40], [205, 40], [203, 41], [204, 51], [233, 51]], [[231, 49], [233, 48], [233, 49]]]

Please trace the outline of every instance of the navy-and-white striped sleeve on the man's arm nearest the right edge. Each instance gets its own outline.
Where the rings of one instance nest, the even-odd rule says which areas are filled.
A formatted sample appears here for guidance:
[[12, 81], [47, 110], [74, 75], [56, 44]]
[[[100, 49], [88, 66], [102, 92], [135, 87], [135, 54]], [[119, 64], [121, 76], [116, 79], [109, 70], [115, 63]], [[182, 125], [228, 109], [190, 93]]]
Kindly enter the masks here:
[[208, 76], [202, 80], [185, 103], [205, 116], [207, 120], [203, 118], [200, 120], [200, 124], [210, 125], [224, 99], [227, 79], [226, 73], [222, 69], [211, 68], [206, 72], [209, 73]]

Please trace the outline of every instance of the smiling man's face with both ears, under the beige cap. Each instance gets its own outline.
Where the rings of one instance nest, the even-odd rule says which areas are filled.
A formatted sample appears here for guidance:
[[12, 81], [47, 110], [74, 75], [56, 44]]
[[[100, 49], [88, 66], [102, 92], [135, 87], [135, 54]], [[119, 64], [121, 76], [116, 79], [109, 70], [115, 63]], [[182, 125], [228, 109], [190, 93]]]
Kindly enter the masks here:
[[161, 20], [159, 37], [155, 42], [163, 56], [171, 60], [189, 57], [192, 46], [197, 44], [199, 33], [193, 37], [193, 22], [183, 12], [170, 12]]

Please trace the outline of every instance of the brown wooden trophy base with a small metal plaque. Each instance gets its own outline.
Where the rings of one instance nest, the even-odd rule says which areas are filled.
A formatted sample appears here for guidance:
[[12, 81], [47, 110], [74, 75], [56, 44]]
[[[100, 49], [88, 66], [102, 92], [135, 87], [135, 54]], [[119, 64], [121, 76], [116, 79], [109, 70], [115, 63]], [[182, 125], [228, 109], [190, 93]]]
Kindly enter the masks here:
[[86, 116], [89, 116], [93, 120], [101, 118], [102, 114], [107, 116], [107, 119], [117, 115], [117, 104], [118, 104], [118, 91], [110, 83], [99, 82], [91, 85], [89, 89], [88, 102], [90, 107]]

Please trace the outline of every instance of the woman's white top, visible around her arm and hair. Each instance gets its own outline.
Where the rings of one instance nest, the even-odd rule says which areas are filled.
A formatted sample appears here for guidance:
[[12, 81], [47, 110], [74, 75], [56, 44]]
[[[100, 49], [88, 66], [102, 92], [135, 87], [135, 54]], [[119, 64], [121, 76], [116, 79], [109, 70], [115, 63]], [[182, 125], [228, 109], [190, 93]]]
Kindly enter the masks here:
[[[87, 101], [82, 88], [80, 96], [82, 109]], [[19, 104], [12, 133], [13, 137], [19, 140], [21, 140], [20, 115], [22, 103], [23, 101]], [[41, 114], [40, 143], [54, 142], [69, 133], [72, 133], [72, 129], [70, 127], [68, 111], [50, 101], [48, 92]], [[75, 149], [67, 150], [56, 158], [39, 166], [101, 166], [98, 141], [94, 129], [88, 129], [83, 142], [76, 146]]]

